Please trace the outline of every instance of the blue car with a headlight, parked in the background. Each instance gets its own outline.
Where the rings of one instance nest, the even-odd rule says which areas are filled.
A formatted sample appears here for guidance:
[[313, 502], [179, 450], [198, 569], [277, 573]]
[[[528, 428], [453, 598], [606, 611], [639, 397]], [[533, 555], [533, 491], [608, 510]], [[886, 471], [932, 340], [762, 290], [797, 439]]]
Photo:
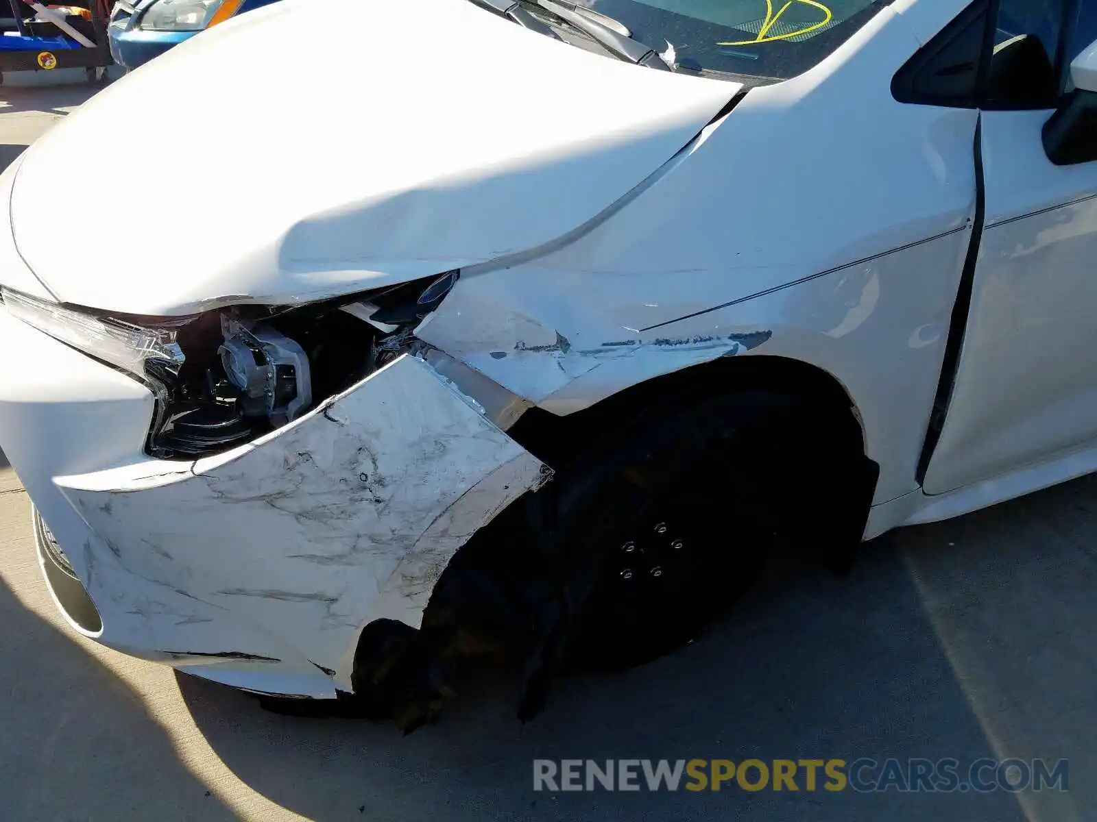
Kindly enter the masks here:
[[188, 37], [275, 0], [118, 0], [108, 34], [111, 56], [137, 68]]

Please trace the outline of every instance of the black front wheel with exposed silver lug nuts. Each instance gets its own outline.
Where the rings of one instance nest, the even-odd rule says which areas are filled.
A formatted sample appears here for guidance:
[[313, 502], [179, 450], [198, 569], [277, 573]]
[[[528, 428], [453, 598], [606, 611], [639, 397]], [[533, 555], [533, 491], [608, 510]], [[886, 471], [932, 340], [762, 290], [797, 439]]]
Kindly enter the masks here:
[[795, 411], [772, 395], [710, 399], [625, 426], [559, 472], [555, 539], [580, 569], [566, 666], [648, 662], [743, 596], [777, 539]]

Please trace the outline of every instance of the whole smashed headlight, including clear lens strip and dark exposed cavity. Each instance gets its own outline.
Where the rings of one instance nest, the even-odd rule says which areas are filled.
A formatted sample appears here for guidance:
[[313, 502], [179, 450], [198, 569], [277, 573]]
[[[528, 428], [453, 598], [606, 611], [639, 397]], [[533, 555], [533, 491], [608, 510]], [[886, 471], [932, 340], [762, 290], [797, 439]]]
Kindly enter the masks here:
[[0, 287], [18, 319], [133, 375], [156, 397], [147, 452], [217, 454], [281, 427], [421, 345], [415, 327], [459, 273], [303, 306], [120, 319]]

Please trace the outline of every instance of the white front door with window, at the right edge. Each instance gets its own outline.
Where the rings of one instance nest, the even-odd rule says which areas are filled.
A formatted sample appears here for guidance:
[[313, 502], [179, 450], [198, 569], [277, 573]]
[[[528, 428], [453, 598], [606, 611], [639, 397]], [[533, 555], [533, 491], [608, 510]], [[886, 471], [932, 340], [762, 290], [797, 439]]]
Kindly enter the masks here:
[[1042, 140], [1070, 61], [1097, 39], [1097, 0], [1000, 0], [995, 12], [982, 237], [930, 494], [1097, 439], [1097, 162], [1056, 165]]

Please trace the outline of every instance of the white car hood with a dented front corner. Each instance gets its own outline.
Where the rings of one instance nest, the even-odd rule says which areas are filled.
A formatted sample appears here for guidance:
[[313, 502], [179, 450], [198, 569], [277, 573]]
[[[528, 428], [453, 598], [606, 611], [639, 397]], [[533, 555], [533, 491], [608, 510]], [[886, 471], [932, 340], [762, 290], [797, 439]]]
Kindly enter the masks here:
[[15, 243], [58, 299], [117, 312], [350, 293], [565, 235], [738, 89], [468, 0], [285, 0], [157, 58], [35, 144]]

